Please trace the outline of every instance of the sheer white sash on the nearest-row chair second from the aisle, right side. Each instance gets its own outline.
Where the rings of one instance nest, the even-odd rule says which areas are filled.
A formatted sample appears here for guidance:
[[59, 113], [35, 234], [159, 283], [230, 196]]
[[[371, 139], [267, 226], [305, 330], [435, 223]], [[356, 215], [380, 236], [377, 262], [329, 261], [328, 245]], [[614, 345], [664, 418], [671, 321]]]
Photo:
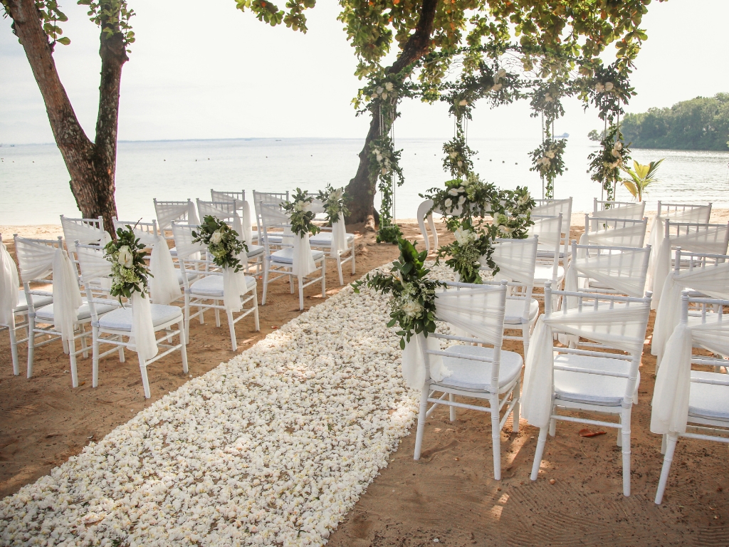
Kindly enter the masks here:
[[522, 414], [529, 424], [547, 427], [552, 415], [554, 389], [553, 328], [640, 354], [645, 339], [648, 306], [615, 304], [614, 309], [557, 312], [549, 319], [540, 315], [529, 341], [521, 395]]

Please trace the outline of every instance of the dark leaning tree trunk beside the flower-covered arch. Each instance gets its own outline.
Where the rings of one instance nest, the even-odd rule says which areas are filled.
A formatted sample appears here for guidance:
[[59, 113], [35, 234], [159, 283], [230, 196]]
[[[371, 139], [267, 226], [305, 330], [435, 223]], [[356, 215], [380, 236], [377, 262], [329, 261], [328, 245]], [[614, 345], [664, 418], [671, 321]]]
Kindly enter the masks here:
[[[437, 0], [423, 0], [416, 31], [405, 43], [397, 61], [387, 67], [388, 74], [397, 74], [429, 52], [436, 7]], [[362, 152], [359, 152], [357, 173], [346, 187], [346, 193], [350, 196], [347, 222], [364, 222], [364, 228], [373, 231], [375, 230], [375, 220], [377, 220], [375, 218], [377, 215], [375, 211], [377, 174], [370, 171], [370, 143], [382, 133], [390, 131], [391, 122], [389, 120], [383, 120], [383, 122], [384, 127], [380, 128], [379, 116], [373, 115], [372, 121], [370, 121], [370, 131], [367, 133], [367, 138], [364, 139], [364, 147], [362, 147]]]

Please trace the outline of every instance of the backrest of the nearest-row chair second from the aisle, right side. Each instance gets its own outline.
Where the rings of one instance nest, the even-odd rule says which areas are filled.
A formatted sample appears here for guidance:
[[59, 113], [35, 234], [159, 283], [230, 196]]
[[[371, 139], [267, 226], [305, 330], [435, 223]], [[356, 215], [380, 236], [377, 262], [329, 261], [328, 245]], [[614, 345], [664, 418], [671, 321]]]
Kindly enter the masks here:
[[[561, 311], [552, 310], [552, 302], [561, 298], [577, 299], [577, 306], [568, 309], [562, 306]], [[573, 335], [577, 338], [577, 346], [619, 350], [625, 354], [612, 352], [595, 352], [577, 348], [555, 347], [554, 351], [567, 354], [590, 355], [590, 357], [605, 357], [627, 360], [631, 362], [630, 371], [625, 382], [623, 400], [632, 401], [636, 389], [638, 368], [645, 333], [650, 316], [651, 293], [646, 292], [643, 298], [620, 295], [593, 294], [587, 292], [573, 292], [552, 290], [551, 282], [545, 286], [545, 318], [544, 322], [552, 327], [555, 334]], [[580, 341], [586, 338], [591, 342]], [[569, 367], [555, 365], [555, 369], [569, 370]], [[596, 371], [600, 373], [600, 371]], [[618, 373], [609, 373], [609, 376], [623, 376]], [[625, 377], [623, 376], [623, 377]]]

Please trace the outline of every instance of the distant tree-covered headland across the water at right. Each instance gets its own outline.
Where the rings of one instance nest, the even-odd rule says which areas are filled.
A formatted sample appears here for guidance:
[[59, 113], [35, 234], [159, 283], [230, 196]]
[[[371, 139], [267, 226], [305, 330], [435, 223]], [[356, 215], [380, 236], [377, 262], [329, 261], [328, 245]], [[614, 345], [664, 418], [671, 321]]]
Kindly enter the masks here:
[[[627, 114], [620, 123], [620, 131], [633, 148], [728, 150], [729, 93]], [[597, 141], [601, 138], [595, 130], [588, 136]]]

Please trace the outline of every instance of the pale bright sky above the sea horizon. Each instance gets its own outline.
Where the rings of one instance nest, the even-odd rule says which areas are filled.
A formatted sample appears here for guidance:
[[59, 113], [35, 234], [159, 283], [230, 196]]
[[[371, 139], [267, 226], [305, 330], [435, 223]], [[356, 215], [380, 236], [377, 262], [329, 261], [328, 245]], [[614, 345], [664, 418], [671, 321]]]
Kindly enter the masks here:
[[[308, 10], [308, 33], [272, 28], [234, 0], [130, 0], [136, 42], [122, 72], [119, 139], [235, 139], [326, 137], [364, 139], [367, 117], [351, 98], [362, 85], [356, 58], [336, 20], [338, 4], [319, 0]], [[284, 4], [283, 0], [279, 4]], [[204, 9], [203, 9], [204, 6]], [[55, 62], [71, 104], [93, 138], [98, 106], [98, 28], [85, 7], [62, 1], [71, 45], [56, 47]], [[727, 0], [653, 1], [644, 16], [644, 43], [632, 83], [639, 93], [628, 112], [671, 106], [695, 96], [729, 92], [725, 53]], [[23, 48], [0, 19], [0, 144], [52, 142], [42, 96]], [[601, 128], [577, 100], [557, 133], [585, 136]], [[449, 139], [453, 120], [444, 104], [405, 101], [396, 139]], [[526, 101], [476, 108], [469, 136], [539, 135]]]

